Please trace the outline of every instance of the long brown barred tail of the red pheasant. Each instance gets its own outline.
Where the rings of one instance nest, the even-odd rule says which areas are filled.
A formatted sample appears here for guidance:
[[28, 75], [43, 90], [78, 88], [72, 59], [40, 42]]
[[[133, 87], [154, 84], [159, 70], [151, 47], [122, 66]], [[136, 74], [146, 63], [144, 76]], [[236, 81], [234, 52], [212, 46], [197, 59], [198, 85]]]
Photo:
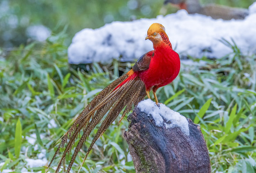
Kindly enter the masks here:
[[97, 131], [90, 147], [87, 150], [85, 156], [86, 159], [96, 140], [106, 131], [109, 125], [114, 122], [119, 113], [126, 107], [122, 114], [123, 118], [132, 109], [132, 104], [137, 105], [145, 97], [145, 86], [143, 82], [136, 77], [137, 75], [131, 73], [131, 71], [127, 74], [122, 75], [114, 82], [112, 82], [109, 86], [104, 88], [85, 107], [85, 109], [74, 121], [68, 132], [64, 136], [62, 136], [62, 141], [59, 144], [57, 151], [54, 154], [54, 157], [50, 162], [48, 168], [51, 166], [53, 160], [56, 158], [60, 148], [63, 148], [65, 143], [67, 143], [67, 146], [57, 165], [56, 173], [58, 173], [61, 164], [65, 163], [66, 155], [71, 152], [71, 148], [74, 146], [76, 139], [80, 136], [79, 134], [81, 130], [83, 130], [83, 135], [79, 139], [79, 142], [72, 155], [70, 164], [67, 168], [67, 173], [69, 173], [71, 170], [71, 166], [74, 163], [75, 158], [79, 150], [85, 143], [87, 137], [96, 127], [96, 125], [100, 123], [104, 115], [110, 110], [106, 118], [101, 123], [99, 130]]

